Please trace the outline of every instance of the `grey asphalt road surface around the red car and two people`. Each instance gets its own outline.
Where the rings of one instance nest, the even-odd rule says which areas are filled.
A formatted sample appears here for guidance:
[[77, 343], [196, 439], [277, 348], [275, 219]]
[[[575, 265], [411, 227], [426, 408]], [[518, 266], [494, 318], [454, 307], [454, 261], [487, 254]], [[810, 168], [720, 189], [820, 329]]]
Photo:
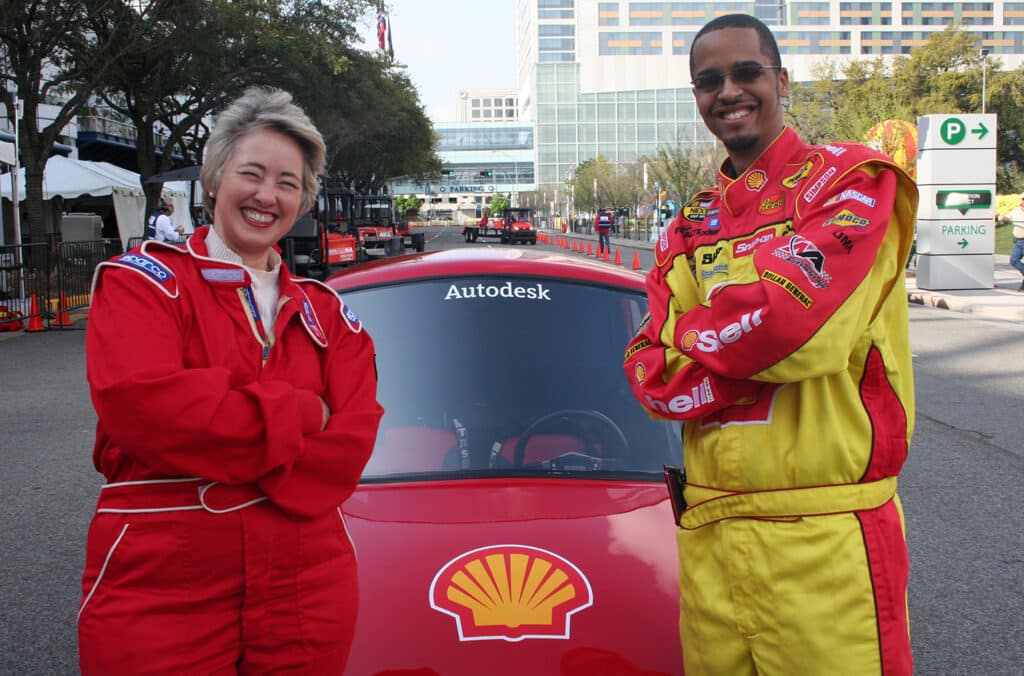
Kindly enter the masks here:
[[[428, 249], [483, 246], [435, 235]], [[84, 325], [0, 334], [0, 675], [77, 673], [80, 575], [101, 482]], [[910, 330], [918, 424], [900, 492], [915, 671], [1021, 675], [1024, 324], [912, 305]]]

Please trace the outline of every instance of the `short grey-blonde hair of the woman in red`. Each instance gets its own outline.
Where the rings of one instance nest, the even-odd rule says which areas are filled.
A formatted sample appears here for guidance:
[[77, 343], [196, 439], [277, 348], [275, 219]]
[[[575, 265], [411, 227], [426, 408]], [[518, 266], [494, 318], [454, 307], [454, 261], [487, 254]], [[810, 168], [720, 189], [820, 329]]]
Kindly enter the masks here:
[[324, 137], [301, 108], [292, 102], [292, 95], [281, 89], [250, 87], [217, 116], [217, 122], [206, 141], [206, 157], [200, 180], [203, 182], [203, 206], [213, 215], [224, 165], [230, 160], [239, 141], [258, 129], [270, 129], [294, 140], [302, 152], [302, 204], [305, 213], [316, 201], [319, 192], [317, 176], [324, 171], [327, 147]]

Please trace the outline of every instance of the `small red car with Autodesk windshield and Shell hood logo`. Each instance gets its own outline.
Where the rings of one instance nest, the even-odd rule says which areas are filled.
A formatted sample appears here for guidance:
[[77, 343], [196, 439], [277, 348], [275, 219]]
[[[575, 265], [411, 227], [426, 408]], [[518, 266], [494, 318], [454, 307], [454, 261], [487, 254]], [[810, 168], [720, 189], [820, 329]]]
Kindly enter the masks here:
[[438, 251], [329, 280], [377, 347], [385, 408], [345, 503], [359, 561], [346, 673], [682, 673], [680, 426], [634, 400], [639, 273]]

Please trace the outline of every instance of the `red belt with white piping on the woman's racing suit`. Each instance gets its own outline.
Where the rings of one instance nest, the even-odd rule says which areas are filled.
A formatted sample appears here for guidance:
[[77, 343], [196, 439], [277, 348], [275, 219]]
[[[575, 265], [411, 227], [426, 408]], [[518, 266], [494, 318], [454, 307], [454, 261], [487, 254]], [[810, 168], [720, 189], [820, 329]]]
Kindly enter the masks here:
[[202, 478], [119, 481], [100, 487], [97, 514], [206, 510], [225, 514], [267, 500], [255, 484], [227, 485]]

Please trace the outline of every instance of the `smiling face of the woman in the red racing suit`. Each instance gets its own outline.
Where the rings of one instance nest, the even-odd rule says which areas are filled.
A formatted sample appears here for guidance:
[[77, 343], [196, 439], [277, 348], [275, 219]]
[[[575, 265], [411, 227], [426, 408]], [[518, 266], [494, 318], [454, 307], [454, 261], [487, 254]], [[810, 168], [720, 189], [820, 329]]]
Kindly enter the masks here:
[[213, 227], [250, 267], [265, 269], [270, 250], [295, 223], [302, 202], [299, 144], [271, 129], [239, 139], [215, 195]]

